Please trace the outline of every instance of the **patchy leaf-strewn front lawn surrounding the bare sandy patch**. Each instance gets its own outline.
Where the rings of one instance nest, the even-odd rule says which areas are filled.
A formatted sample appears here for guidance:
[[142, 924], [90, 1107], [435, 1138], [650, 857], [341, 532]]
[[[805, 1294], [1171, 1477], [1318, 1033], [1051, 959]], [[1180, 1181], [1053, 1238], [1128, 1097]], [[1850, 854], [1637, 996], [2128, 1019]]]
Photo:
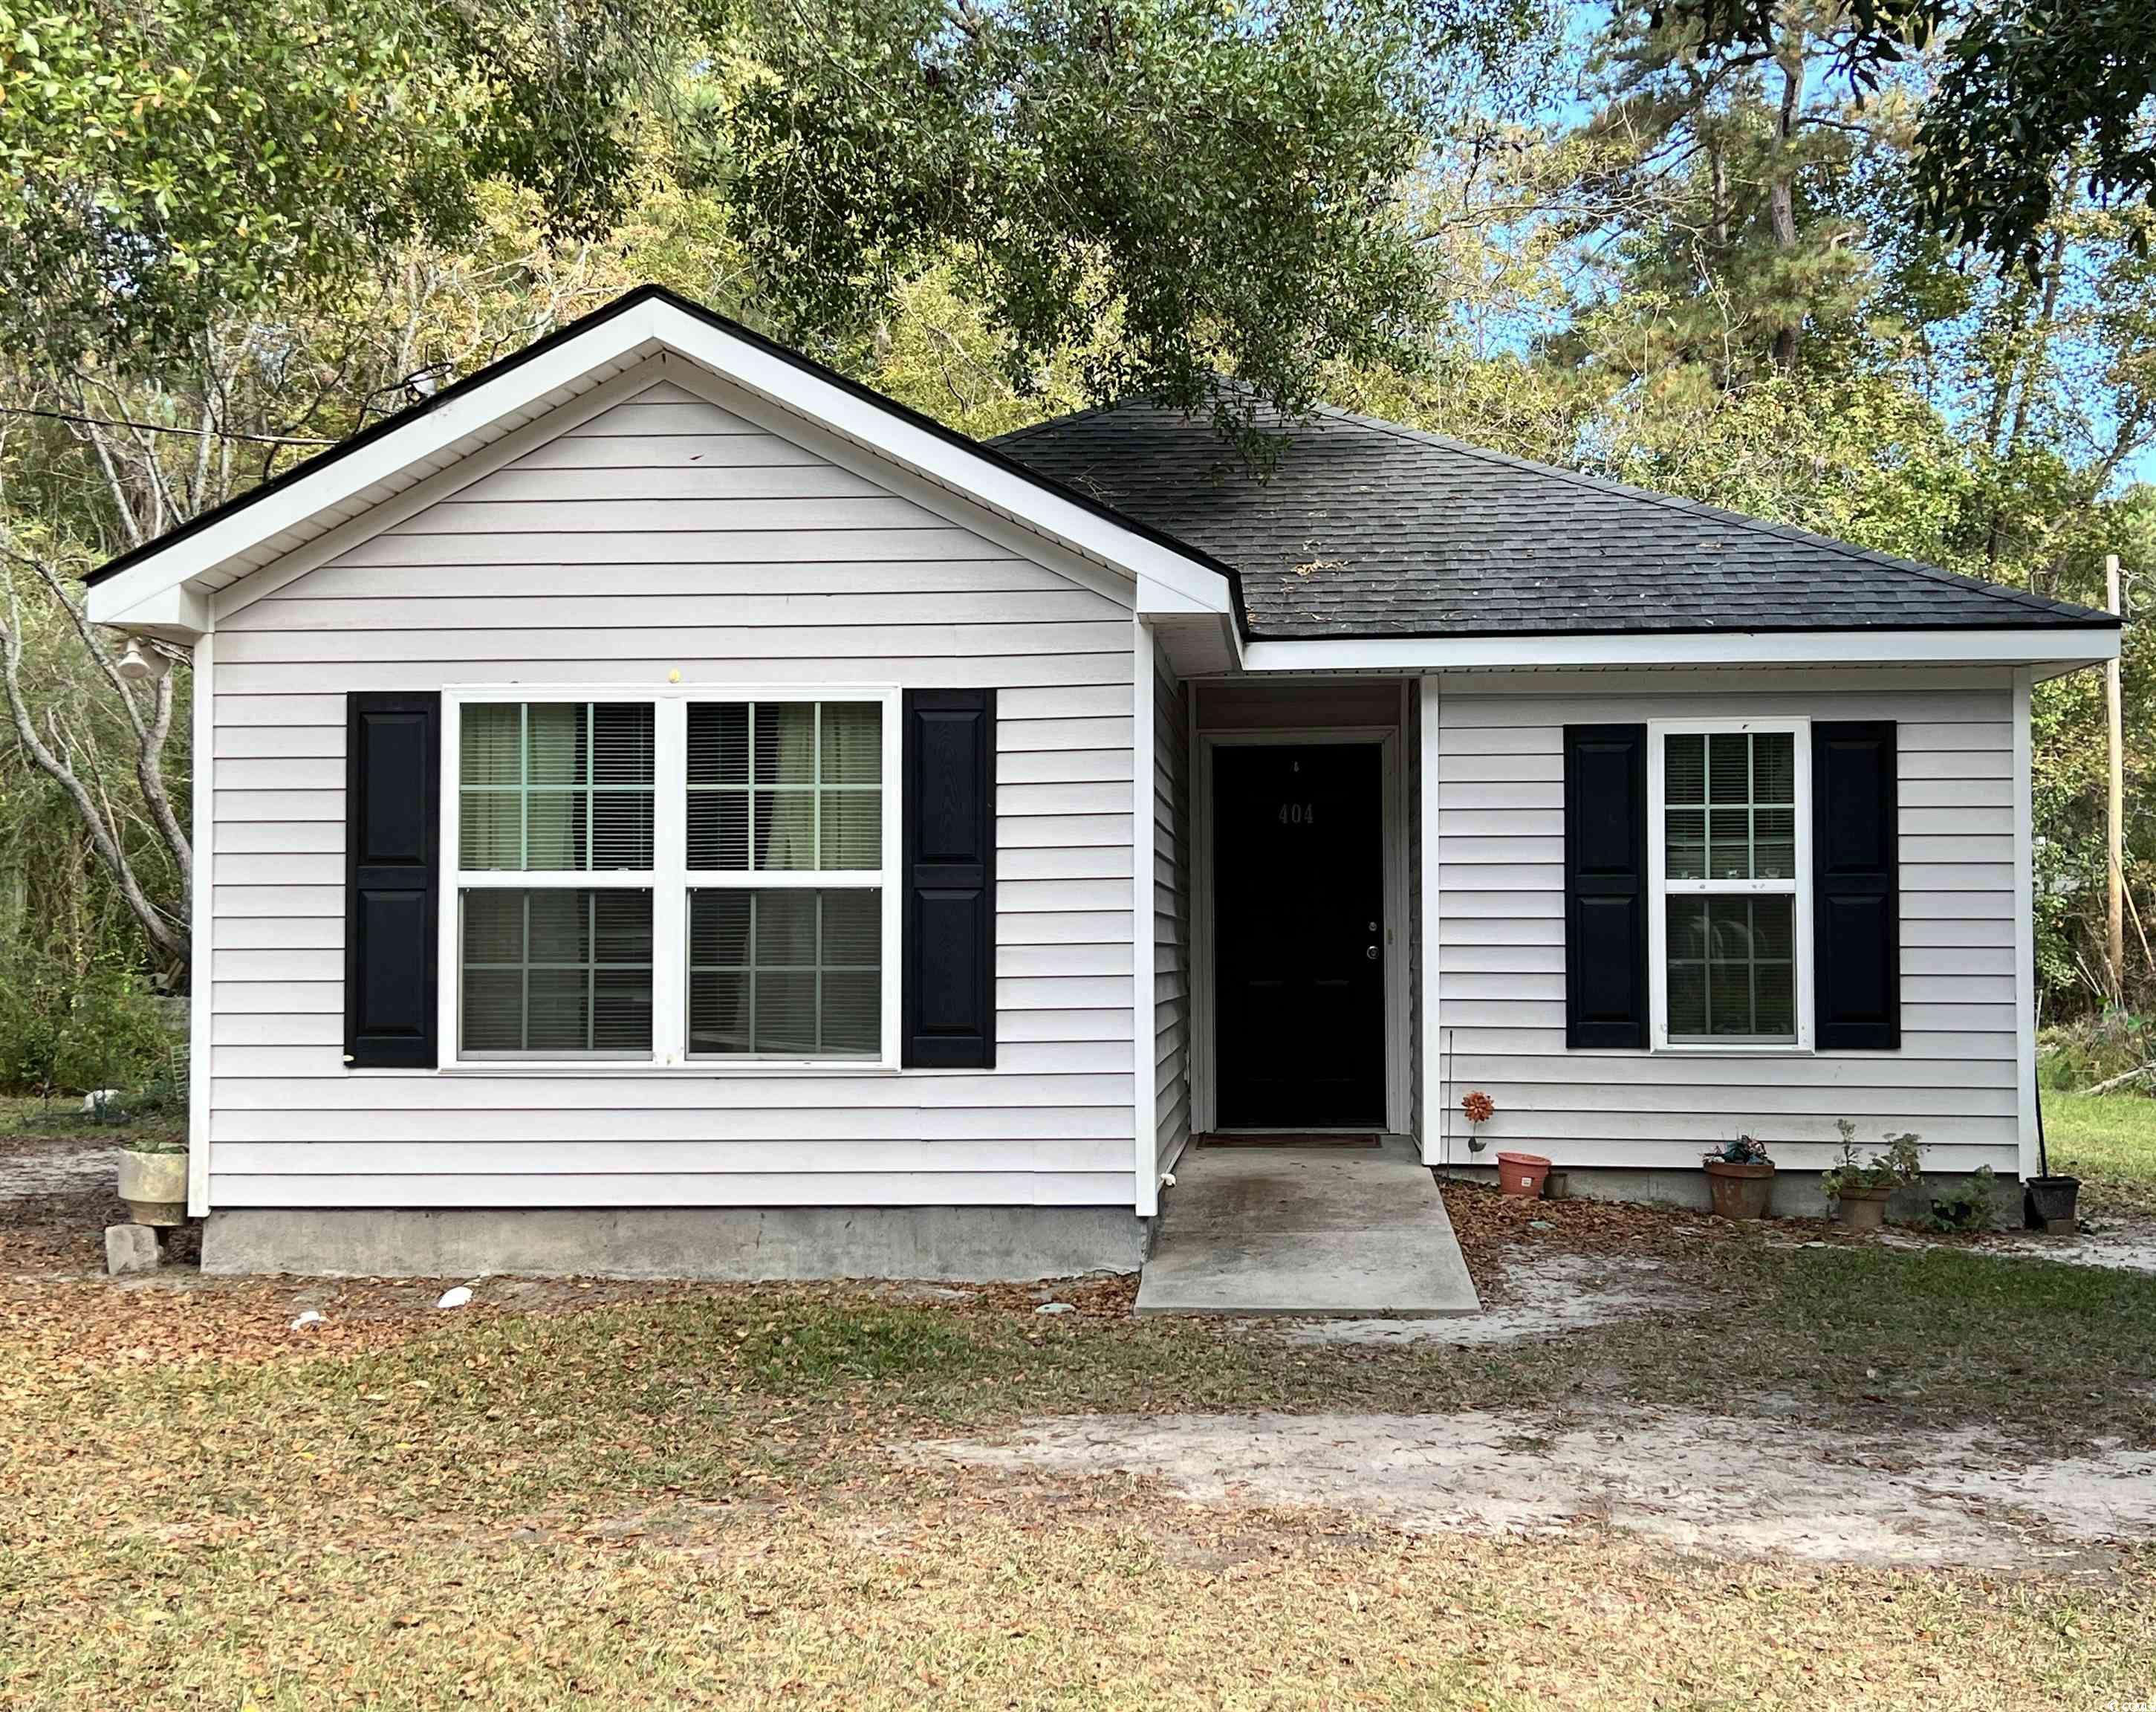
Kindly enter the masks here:
[[[1779, 1408], [2150, 1442], [2156, 1281], [1451, 1190], [1477, 1251], [1654, 1257], [1518, 1345], [1132, 1320], [1130, 1283], [0, 1281], [0, 1703], [2012, 1706], [2156, 1693], [2100, 1585], [1404, 1537], [1130, 1477], [921, 1468], [1026, 1414]], [[295, 1302], [328, 1324], [289, 1330]], [[1733, 1471], [1729, 1503], [1744, 1503]]]

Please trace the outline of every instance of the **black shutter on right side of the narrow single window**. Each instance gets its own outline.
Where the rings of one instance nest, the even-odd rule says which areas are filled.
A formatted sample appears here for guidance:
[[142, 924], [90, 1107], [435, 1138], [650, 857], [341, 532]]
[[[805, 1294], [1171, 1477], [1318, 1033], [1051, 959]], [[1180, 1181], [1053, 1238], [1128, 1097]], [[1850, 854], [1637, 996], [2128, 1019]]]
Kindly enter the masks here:
[[1902, 1046], [1899, 793], [1893, 720], [1811, 727], [1815, 1046]]

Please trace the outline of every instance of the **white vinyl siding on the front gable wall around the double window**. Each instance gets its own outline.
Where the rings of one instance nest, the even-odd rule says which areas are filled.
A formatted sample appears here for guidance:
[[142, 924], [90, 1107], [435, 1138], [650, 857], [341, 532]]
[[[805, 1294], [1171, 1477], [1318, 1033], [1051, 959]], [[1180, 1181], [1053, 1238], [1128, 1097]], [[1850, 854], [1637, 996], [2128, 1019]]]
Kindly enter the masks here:
[[[662, 379], [220, 621], [213, 1205], [1132, 1203], [1130, 610], [759, 410]], [[996, 1069], [347, 1072], [345, 694], [673, 673], [998, 692]]]

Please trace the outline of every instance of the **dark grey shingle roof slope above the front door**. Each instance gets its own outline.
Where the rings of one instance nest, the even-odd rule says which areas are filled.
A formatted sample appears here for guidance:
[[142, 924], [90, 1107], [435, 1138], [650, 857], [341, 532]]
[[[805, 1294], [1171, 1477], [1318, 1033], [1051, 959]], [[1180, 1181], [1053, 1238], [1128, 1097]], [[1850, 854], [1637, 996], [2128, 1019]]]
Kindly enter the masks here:
[[1242, 574], [1253, 636], [1960, 630], [2115, 619], [1800, 528], [1319, 410], [1250, 477], [1203, 418], [1119, 403], [996, 448]]

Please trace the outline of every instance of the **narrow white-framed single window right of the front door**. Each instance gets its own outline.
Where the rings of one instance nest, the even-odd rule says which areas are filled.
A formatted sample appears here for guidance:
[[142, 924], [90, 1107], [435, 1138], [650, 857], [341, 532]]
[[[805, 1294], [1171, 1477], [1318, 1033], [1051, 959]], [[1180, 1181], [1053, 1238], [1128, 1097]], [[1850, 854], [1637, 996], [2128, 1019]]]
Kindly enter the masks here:
[[1809, 1044], [1802, 722], [1649, 727], [1656, 1046]]

